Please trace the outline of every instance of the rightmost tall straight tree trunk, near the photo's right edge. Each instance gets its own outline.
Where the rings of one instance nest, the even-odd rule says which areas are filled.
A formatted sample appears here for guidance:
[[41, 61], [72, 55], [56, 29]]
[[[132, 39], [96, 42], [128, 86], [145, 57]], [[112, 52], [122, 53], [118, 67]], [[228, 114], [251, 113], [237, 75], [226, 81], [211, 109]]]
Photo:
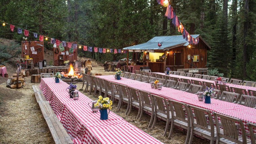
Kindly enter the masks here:
[[246, 37], [248, 32], [248, 9], [249, 9], [249, 0], [244, 0], [245, 3], [245, 21], [244, 21], [244, 40], [243, 40], [243, 78], [246, 77], [246, 63], [248, 61], [248, 54], [247, 54], [247, 43]]

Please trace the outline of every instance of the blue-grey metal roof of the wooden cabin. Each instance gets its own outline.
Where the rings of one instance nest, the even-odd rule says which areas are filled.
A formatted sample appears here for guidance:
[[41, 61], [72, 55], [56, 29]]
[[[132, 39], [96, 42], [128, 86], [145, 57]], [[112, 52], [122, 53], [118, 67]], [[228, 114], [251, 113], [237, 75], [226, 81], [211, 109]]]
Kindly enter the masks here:
[[[202, 40], [210, 49], [210, 46], [200, 37], [200, 35], [190, 35], [193, 38], [199, 37], [199, 41]], [[162, 46], [159, 47], [157, 44], [162, 43]], [[123, 49], [131, 50], [167, 50], [178, 46], [187, 46], [189, 45], [182, 35], [179, 36], [156, 36], [153, 37], [146, 43], [125, 47]]]

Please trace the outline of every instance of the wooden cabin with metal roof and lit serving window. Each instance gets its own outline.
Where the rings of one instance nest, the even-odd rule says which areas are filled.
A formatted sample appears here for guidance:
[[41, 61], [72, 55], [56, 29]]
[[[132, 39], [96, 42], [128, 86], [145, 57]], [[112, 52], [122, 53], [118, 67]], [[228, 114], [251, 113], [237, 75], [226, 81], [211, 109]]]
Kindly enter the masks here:
[[[123, 48], [129, 52], [143, 52], [143, 60], [152, 72], [164, 72], [166, 67], [177, 69], [206, 68], [207, 50], [211, 47], [200, 35], [198, 44], [189, 44], [182, 35], [157, 36], [146, 43]], [[158, 43], [162, 45], [159, 47]], [[127, 52], [128, 59], [128, 52]], [[127, 62], [128, 67], [128, 62]]]

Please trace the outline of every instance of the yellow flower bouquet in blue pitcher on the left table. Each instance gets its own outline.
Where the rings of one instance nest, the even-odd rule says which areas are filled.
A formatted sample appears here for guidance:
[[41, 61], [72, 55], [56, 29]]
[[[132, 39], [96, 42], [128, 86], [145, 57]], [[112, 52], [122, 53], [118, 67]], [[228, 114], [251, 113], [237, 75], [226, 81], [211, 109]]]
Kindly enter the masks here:
[[[108, 114], [112, 109], [112, 101], [110, 101], [108, 97], [102, 98], [102, 96], [99, 96], [99, 99], [94, 106], [99, 108], [101, 120], [108, 119]], [[109, 109], [108, 113], [107, 109]]]

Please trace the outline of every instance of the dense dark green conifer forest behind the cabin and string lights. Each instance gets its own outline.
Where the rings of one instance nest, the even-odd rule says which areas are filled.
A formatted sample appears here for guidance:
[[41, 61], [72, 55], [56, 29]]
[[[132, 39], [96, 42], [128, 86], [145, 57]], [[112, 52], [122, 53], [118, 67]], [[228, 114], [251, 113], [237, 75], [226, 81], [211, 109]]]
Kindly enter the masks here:
[[[186, 30], [200, 34], [211, 46], [207, 51], [208, 68], [217, 68], [225, 77], [256, 81], [256, 0], [169, 3]], [[164, 16], [165, 11], [166, 7], [156, 0], [1, 0], [0, 21], [16, 29], [11, 32], [9, 25], [1, 24], [0, 37], [20, 42], [24, 36], [17, 33], [20, 27], [81, 45], [122, 49], [154, 36], [181, 35]], [[38, 39], [29, 33], [28, 40]], [[78, 53], [100, 62], [126, 57], [83, 49]]]

